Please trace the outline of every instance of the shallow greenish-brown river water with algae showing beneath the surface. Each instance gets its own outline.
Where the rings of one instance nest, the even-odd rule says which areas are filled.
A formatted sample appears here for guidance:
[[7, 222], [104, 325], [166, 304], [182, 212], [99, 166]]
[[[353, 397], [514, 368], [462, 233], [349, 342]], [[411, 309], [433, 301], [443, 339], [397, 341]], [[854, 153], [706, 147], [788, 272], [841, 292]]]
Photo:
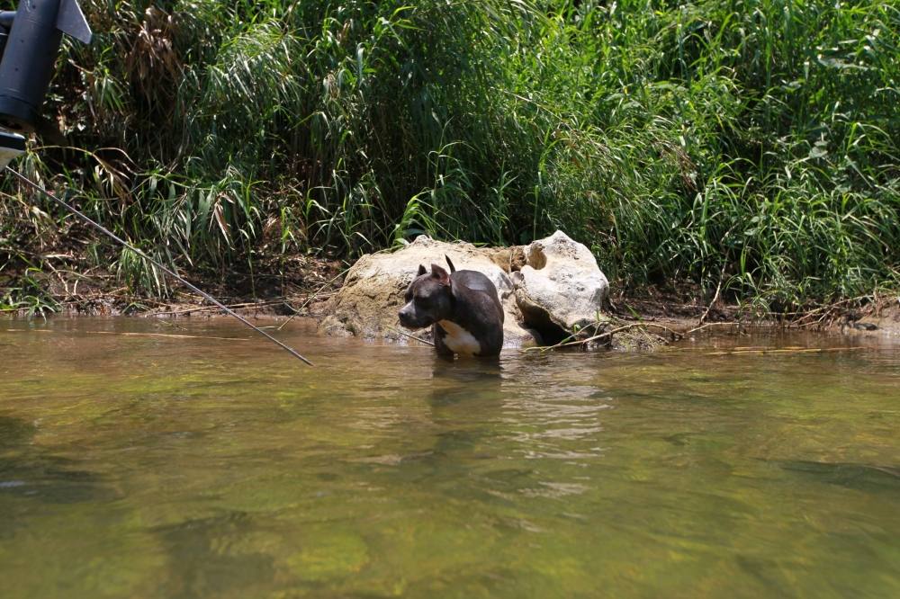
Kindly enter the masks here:
[[898, 344], [280, 335], [0, 323], [0, 595], [900, 596]]

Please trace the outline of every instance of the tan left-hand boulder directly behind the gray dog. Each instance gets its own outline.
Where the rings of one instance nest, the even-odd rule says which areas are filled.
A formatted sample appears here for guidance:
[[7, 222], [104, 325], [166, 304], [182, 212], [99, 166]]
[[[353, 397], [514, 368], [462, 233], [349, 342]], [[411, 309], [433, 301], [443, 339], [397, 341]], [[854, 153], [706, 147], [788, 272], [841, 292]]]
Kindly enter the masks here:
[[[539, 343], [536, 333], [520, 324], [522, 315], [516, 304], [512, 280], [499, 265], [503, 264], [504, 256], [507, 264], [515, 264], [514, 252], [509, 248], [482, 249], [464, 242], [446, 243], [424, 235], [392, 254], [369, 254], [360, 258], [347, 273], [340, 291], [331, 299], [329, 316], [321, 321], [320, 328], [330, 335], [405, 339], [398, 333], [405, 329], [397, 320], [403, 293], [419, 264], [428, 268], [431, 264], [439, 264], [446, 268], [445, 255], [450, 256], [457, 270], [484, 273], [497, 287], [506, 314], [503, 323], [505, 347]], [[416, 335], [430, 338], [430, 329]]]

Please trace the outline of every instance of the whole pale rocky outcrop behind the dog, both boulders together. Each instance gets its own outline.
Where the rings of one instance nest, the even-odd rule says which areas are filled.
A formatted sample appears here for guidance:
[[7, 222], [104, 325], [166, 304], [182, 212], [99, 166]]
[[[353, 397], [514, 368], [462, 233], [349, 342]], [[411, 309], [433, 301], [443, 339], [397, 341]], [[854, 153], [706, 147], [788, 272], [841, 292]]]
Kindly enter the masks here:
[[[530, 246], [481, 248], [420, 236], [393, 253], [364, 255], [330, 300], [320, 328], [332, 335], [401, 340], [397, 312], [419, 264], [484, 273], [500, 293], [504, 346], [554, 342], [596, 324], [608, 282], [590, 250], [562, 231]], [[428, 338], [428, 331], [418, 336]]]

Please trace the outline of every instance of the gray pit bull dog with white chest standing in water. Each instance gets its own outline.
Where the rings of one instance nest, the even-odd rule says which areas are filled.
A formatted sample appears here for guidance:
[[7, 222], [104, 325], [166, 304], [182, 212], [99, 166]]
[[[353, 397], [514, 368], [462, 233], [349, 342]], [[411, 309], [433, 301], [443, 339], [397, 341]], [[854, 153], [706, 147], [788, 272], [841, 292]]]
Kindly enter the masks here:
[[491, 279], [477, 271], [457, 272], [446, 257], [450, 273], [419, 264], [419, 273], [406, 291], [401, 325], [432, 326], [437, 353], [496, 356], [503, 347], [503, 308]]

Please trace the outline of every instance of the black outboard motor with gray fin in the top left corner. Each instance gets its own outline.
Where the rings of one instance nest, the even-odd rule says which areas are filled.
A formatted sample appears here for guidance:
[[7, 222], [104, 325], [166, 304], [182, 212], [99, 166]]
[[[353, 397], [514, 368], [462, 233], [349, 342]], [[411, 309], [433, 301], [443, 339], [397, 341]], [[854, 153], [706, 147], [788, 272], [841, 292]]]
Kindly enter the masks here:
[[15, 11], [0, 11], [0, 167], [24, 152], [23, 133], [55, 130], [40, 106], [63, 33], [91, 40], [77, 0], [20, 0]]

